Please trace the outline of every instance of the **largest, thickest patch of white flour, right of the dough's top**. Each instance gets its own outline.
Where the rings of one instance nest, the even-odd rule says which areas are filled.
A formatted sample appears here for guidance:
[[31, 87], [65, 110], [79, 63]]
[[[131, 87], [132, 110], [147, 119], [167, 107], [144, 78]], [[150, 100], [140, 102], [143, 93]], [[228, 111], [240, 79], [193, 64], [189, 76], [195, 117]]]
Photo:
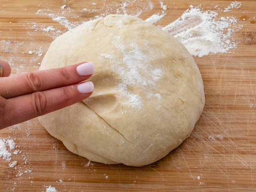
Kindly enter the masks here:
[[[239, 2], [236, 4], [241, 6]], [[239, 8], [234, 3], [230, 7]], [[228, 50], [237, 46], [238, 42], [233, 40], [232, 35], [241, 26], [235, 26], [237, 20], [234, 17], [217, 16], [218, 12], [202, 11], [200, 6], [190, 6], [180, 18], [162, 29], [180, 40], [193, 56], [228, 53]]]

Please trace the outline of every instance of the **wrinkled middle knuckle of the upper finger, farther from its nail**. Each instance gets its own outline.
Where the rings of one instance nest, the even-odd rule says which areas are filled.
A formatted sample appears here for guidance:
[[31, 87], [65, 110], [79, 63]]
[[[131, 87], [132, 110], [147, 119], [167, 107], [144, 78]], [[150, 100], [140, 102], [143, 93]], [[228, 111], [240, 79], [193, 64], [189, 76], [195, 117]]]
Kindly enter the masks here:
[[43, 82], [44, 81], [42, 80], [42, 77], [39, 76], [38, 74], [34, 73], [34, 72], [28, 73], [26, 75], [26, 80], [27, 80], [28, 87], [33, 92], [39, 91], [43, 87]]

